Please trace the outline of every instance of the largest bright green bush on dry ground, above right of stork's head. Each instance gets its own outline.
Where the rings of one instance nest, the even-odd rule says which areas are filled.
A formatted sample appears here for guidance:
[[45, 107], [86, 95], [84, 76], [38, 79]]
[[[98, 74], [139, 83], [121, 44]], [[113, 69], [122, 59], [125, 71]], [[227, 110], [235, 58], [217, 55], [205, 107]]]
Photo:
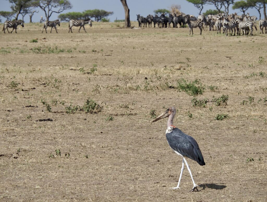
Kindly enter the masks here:
[[202, 95], [205, 90], [205, 88], [202, 86], [202, 83], [199, 80], [188, 82], [184, 79], [179, 79], [177, 81], [177, 88], [192, 96], [197, 96], [198, 94]]

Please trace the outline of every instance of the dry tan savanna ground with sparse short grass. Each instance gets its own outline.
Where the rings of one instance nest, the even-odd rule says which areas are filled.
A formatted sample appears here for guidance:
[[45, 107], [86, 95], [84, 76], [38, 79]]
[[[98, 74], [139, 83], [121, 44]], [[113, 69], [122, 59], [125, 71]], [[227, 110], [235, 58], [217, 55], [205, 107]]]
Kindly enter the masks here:
[[[0, 200], [266, 201], [267, 35], [119, 25], [0, 33]], [[192, 105], [180, 79], [201, 82], [206, 107]], [[227, 105], [216, 106], [223, 94]], [[101, 112], [82, 110], [88, 98]], [[181, 189], [169, 189], [182, 159], [166, 141], [167, 119], [151, 123], [150, 112], [173, 105], [174, 125], [206, 162], [188, 160], [199, 192], [188, 192], [186, 168]]]

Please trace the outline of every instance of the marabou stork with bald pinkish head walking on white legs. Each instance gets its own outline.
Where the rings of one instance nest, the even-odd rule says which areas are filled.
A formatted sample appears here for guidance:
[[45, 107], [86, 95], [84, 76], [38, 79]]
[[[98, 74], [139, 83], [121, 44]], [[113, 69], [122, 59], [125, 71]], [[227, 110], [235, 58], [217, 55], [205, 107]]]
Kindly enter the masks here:
[[175, 113], [176, 113], [175, 107], [174, 106], [170, 107], [164, 113], [160, 114], [152, 122], [158, 121], [162, 118], [169, 117], [168, 121], [167, 121], [167, 130], [166, 130], [167, 141], [168, 141], [171, 149], [176, 154], [178, 154], [179, 156], [182, 156], [182, 158], [183, 158], [183, 163], [182, 163], [182, 168], [181, 168], [181, 173], [180, 173], [178, 185], [177, 185], [177, 187], [172, 187], [172, 189], [180, 189], [179, 185], [180, 185], [180, 181], [182, 178], [183, 169], [184, 169], [184, 162], [185, 162], [186, 167], [189, 171], [189, 174], [190, 174], [192, 181], [193, 181], [193, 184], [194, 184], [194, 187], [190, 191], [194, 191], [195, 189], [197, 189], [197, 191], [198, 191], [197, 187], [199, 187], [199, 186], [195, 183], [195, 181], [193, 179], [190, 167], [189, 167], [185, 157], [188, 157], [192, 160], [195, 160], [201, 166], [204, 166], [205, 162], [204, 162], [203, 156], [201, 154], [201, 151], [199, 149], [197, 141], [195, 141], [195, 139], [193, 137], [183, 133], [180, 129], [178, 129], [172, 125], [172, 121], [174, 119]]

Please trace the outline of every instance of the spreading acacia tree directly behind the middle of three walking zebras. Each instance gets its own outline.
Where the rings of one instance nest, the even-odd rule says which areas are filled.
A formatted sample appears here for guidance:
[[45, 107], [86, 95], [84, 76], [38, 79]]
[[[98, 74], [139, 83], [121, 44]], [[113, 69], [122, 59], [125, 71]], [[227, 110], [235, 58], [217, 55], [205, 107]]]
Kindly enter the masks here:
[[49, 20], [53, 13], [61, 13], [72, 8], [69, 0], [38, 0], [35, 5], [45, 12], [46, 20]]

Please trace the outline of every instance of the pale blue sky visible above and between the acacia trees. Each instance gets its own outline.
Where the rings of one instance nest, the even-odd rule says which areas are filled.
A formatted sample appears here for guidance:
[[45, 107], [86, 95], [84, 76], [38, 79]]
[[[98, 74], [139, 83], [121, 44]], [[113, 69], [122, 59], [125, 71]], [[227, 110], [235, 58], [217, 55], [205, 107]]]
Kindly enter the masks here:
[[[106, 11], [113, 11], [114, 14], [109, 16], [108, 18], [111, 21], [117, 19], [124, 19], [124, 9], [120, 2], [120, 0], [70, 0], [73, 5], [73, 8], [70, 10], [66, 10], [63, 13], [67, 12], [82, 12], [84, 10], [92, 10], [92, 9], [103, 9]], [[10, 3], [7, 0], [0, 0], [1, 8], [3, 11], [11, 11]], [[130, 20], [136, 20], [136, 14], [140, 14], [143, 16], [147, 16], [148, 14], [154, 14], [154, 10], [163, 9], [170, 7], [172, 4], [181, 5], [181, 11], [186, 14], [196, 15], [198, 16], [198, 9], [194, 7], [193, 4], [188, 3], [186, 0], [127, 0], [128, 7], [130, 9]], [[204, 7], [203, 11], [208, 9], [215, 9], [212, 5], [207, 5]], [[40, 10], [40, 9], [39, 9]], [[232, 6], [229, 13], [241, 12], [239, 10], [233, 10]], [[258, 11], [256, 9], [249, 9], [248, 12], [250, 15], [256, 15], [259, 18]], [[263, 11], [262, 11], [263, 14]], [[41, 16], [45, 18], [44, 12], [42, 10], [39, 13], [34, 14], [33, 21], [40, 21]], [[58, 14], [55, 13], [51, 16], [50, 20], [57, 19]], [[22, 18], [21, 16], [19, 18]], [[2, 18], [2, 22], [6, 19]], [[29, 22], [29, 16], [25, 16], [25, 22]]]

